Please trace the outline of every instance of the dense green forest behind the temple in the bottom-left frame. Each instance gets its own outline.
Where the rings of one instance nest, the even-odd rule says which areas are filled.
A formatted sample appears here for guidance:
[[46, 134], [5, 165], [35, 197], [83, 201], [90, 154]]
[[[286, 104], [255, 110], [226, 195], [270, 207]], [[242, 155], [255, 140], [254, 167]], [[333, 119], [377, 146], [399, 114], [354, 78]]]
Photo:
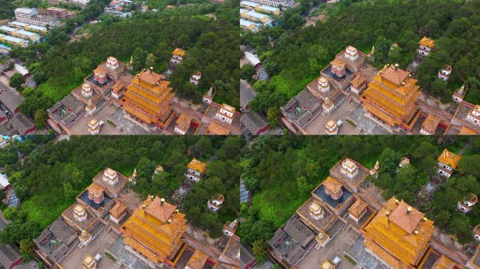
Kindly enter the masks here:
[[[0, 240], [20, 242], [39, 235], [106, 167], [127, 177], [137, 168], [133, 189], [141, 198], [148, 194], [168, 198], [180, 186], [194, 157], [209, 162], [207, 177], [194, 185], [180, 209], [195, 226], [218, 237], [225, 221], [238, 216], [239, 152], [244, 143], [241, 137], [84, 136], [47, 142], [36, 136], [9, 144], [0, 151], [0, 166], [22, 207], [13, 223], [1, 231]], [[25, 158], [19, 159], [18, 153]], [[152, 177], [156, 165], [162, 165], [165, 172]], [[225, 195], [218, 213], [206, 209], [215, 193]]]

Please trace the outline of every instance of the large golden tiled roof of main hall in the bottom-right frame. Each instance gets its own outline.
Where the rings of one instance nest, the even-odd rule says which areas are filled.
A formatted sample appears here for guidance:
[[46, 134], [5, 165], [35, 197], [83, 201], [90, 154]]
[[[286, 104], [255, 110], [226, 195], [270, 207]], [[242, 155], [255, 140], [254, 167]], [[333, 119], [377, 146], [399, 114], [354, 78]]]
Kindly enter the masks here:
[[394, 268], [403, 268], [397, 266], [401, 263], [417, 265], [427, 251], [434, 228], [433, 221], [393, 197], [365, 226], [365, 244]]

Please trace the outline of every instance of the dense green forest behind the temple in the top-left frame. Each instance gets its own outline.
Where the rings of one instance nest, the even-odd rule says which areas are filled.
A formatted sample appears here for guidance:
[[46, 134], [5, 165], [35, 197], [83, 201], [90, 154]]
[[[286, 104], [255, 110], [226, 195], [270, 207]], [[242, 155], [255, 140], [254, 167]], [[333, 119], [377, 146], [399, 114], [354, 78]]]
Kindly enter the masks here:
[[[84, 20], [100, 15], [105, 4], [97, 1], [100, 10], [95, 8], [95, 13], [88, 13]], [[234, 0], [221, 5], [149, 11], [128, 19], [102, 15], [102, 22], [88, 25], [87, 31], [81, 29], [86, 36], [74, 42], [69, 42], [67, 34], [72, 34], [83, 20], [67, 20], [65, 27], [55, 28], [46, 36], [46, 42], [12, 51], [12, 57], [23, 60], [39, 83], [36, 90], [22, 92], [26, 98], [20, 110], [34, 115], [39, 109], [48, 109], [110, 55], [125, 63], [133, 56], [135, 71], [152, 66], [163, 72], [175, 47], [187, 50], [185, 61], [173, 72], [171, 85], [175, 92], [198, 103], [204, 92], [215, 85], [216, 102], [238, 105], [238, 3]], [[198, 86], [189, 83], [195, 70], [202, 72]]]

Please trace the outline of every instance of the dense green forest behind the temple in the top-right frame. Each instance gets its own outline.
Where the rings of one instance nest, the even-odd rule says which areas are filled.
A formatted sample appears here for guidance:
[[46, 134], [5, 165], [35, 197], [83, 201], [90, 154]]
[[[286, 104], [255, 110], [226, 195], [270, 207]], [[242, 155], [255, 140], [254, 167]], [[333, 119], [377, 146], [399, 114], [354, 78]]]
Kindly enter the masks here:
[[[300, 1], [300, 7], [288, 9], [276, 20], [275, 27], [241, 35], [241, 43], [256, 48], [265, 69], [272, 74], [272, 87], [263, 88], [265, 91], [260, 88], [253, 109], [265, 112], [279, 100], [295, 96], [349, 45], [364, 53], [375, 46], [373, 65], [377, 68], [394, 62], [406, 68], [422, 36], [435, 39], [437, 48], [418, 70], [422, 89], [442, 102], [450, 102], [453, 90], [468, 81], [467, 101], [480, 103], [479, 0], [348, 0], [328, 7], [320, 4], [319, 10], [326, 10], [325, 22], [303, 27], [302, 15], [318, 2]], [[392, 46], [394, 43], [398, 47]], [[448, 83], [436, 79], [444, 64], [453, 67]], [[269, 99], [273, 93], [275, 98]]]

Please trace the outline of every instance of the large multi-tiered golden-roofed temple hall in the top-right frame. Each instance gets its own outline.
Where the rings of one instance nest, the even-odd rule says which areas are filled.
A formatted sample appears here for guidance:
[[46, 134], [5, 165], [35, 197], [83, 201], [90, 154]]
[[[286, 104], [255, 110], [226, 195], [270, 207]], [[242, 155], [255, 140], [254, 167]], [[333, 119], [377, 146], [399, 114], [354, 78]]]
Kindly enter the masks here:
[[398, 64], [387, 64], [361, 96], [364, 109], [387, 125], [409, 131], [420, 116], [415, 104], [420, 95], [416, 83], [417, 80], [411, 78], [408, 71], [399, 69]]

